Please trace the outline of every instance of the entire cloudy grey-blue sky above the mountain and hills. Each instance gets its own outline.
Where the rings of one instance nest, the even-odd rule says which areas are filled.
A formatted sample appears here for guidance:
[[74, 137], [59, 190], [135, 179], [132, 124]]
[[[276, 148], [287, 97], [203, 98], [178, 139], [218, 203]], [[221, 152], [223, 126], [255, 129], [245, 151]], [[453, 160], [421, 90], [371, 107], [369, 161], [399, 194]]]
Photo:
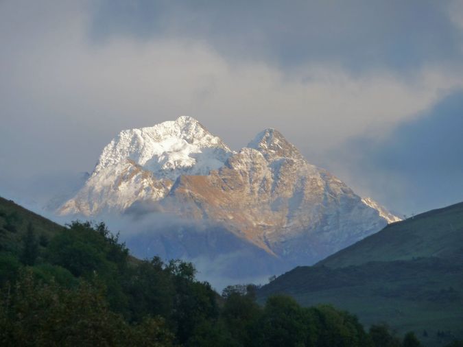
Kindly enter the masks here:
[[179, 115], [399, 214], [463, 201], [463, 1], [0, 0], [0, 47], [0, 195], [36, 209]]

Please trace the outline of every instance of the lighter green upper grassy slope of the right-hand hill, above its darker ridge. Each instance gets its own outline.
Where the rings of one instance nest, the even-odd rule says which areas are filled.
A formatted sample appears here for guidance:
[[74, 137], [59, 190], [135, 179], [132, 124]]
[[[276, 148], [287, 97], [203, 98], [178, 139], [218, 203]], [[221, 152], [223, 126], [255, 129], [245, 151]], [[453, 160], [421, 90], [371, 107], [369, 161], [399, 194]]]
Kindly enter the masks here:
[[390, 224], [317, 265], [346, 267], [427, 256], [463, 259], [463, 203]]

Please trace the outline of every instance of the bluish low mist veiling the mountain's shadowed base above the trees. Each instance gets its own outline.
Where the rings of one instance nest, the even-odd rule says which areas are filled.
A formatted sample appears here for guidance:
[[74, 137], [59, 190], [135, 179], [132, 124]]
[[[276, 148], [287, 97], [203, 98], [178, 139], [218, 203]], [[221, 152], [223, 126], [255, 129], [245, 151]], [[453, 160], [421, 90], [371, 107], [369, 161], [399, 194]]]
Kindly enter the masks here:
[[[59, 219], [65, 224], [88, 217]], [[270, 276], [292, 267], [220, 224], [161, 213], [154, 204], [136, 203], [123, 214], [102, 213], [93, 222], [104, 222], [112, 233], [119, 233], [119, 240], [139, 259], [191, 261], [198, 280], [211, 283], [217, 291], [227, 285], [265, 284]]]

